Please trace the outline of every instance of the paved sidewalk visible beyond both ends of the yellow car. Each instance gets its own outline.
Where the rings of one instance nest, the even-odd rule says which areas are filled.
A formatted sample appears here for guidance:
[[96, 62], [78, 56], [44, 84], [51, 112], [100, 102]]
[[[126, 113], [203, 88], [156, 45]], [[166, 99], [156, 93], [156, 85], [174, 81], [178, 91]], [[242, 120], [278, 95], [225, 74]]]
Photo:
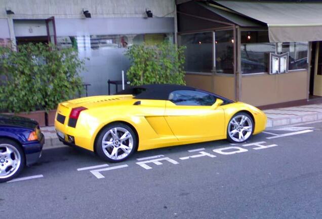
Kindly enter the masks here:
[[[264, 112], [267, 116], [266, 128], [322, 120], [322, 104], [267, 109]], [[41, 130], [45, 135], [47, 149], [64, 147], [58, 140], [55, 127], [42, 127]]]

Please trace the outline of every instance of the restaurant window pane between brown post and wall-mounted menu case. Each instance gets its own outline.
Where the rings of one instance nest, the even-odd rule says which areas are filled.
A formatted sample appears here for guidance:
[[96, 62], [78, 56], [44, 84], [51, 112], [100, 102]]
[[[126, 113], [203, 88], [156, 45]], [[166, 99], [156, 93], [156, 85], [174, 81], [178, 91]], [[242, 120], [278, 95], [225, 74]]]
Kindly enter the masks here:
[[269, 43], [268, 31], [243, 31], [240, 40], [242, 73], [267, 72], [269, 53], [276, 52], [276, 44]]

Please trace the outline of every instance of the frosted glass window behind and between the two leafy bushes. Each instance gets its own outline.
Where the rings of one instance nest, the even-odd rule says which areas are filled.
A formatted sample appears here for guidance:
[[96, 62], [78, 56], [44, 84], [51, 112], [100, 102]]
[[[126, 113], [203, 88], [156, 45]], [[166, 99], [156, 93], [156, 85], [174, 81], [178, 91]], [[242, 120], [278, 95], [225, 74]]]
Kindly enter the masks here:
[[[91, 84], [89, 95], [103, 95], [107, 91], [107, 80], [122, 80], [122, 71], [126, 72], [131, 66], [124, 54], [129, 46], [172, 42], [172, 36], [172, 33], [58, 36], [57, 47], [75, 48], [80, 58], [88, 58], [80, 75], [84, 83]], [[116, 92], [115, 86], [111, 86], [111, 93]]]

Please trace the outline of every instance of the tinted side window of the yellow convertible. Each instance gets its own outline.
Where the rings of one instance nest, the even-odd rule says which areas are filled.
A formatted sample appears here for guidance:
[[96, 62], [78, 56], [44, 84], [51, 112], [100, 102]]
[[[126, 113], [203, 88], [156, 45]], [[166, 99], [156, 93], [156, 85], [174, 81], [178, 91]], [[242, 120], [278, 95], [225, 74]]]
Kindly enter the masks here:
[[179, 90], [170, 93], [169, 100], [176, 105], [211, 106], [216, 102], [216, 97], [199, 91]]

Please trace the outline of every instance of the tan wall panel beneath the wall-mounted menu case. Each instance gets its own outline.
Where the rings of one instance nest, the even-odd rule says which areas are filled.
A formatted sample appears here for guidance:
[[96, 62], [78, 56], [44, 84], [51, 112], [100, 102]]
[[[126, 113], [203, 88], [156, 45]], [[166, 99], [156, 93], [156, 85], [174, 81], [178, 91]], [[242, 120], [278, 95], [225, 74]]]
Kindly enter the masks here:
[[243, 76], [242, 101], [255, 106], [307, 98], [307, 70]]

